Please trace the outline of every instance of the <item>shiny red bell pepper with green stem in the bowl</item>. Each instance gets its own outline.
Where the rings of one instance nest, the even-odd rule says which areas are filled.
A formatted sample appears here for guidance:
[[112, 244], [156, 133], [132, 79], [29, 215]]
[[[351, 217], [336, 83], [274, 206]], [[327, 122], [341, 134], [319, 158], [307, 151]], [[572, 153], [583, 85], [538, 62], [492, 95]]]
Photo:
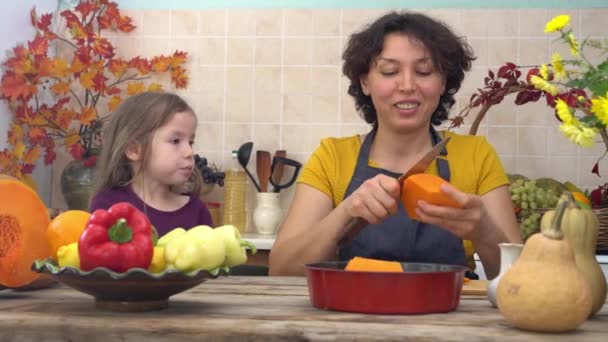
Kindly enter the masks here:
[[95, 210], [78, 241], [78, 254], [84, 271], [147, 269], [154, 254], [150, 220], [126, 202]]

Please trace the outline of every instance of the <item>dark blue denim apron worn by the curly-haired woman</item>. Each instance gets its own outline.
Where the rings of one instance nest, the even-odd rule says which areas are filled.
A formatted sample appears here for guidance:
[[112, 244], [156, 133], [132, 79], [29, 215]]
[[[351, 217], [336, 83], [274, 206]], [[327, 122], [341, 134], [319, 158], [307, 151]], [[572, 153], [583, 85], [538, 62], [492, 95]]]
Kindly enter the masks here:
[[[394, 178], [399, 174], [368, 165], [369, 150], [376, 131], [372, 130], [365, 137], [355, 172], [346, 189], [344, 198], [350, 196], [363, 182], [384, 174]], [[441, 137], [431, 128], [433, 146]], [[447, 161], [447, 150], [444, 148], [436, 159], [438, 174], [450, 181], [450, 167]], [[349, 243], [338, 250], [339, 259], [350, 260], [355, 256], [394, 260], [402, 262], [429, 262], [467, 266], [462, 239], [438, 226], [422, 223], [407, 216], [403, 203], [399, 202], [398, 212], [387, 217], [379, 224], [368, 224]]]

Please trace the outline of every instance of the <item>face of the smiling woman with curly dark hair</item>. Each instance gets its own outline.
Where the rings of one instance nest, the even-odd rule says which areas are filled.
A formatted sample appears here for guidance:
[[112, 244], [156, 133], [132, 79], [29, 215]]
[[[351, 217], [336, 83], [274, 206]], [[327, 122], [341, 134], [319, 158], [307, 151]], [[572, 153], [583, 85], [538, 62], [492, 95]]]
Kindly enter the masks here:
[[361, 77], [371, 96], [379, 127], [399, 132], [428, 127], [445, 90], [445, 78], [435, 69], [427, 48], [415, 38], [391, 33], [369, 72]]

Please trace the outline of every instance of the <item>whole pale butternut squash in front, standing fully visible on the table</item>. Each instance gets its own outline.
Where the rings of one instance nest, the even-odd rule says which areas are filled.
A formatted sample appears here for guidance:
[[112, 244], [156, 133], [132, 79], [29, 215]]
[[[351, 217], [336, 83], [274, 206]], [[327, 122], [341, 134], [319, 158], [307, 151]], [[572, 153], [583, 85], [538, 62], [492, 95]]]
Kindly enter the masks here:
[[521, 255], [498, 283], [498, 309], [518, 328], [574, 330], [591, 312], [590, 286], [561, 231], [568, 206], [568, 196], [563, 195], [551, 225], [526, 241]]

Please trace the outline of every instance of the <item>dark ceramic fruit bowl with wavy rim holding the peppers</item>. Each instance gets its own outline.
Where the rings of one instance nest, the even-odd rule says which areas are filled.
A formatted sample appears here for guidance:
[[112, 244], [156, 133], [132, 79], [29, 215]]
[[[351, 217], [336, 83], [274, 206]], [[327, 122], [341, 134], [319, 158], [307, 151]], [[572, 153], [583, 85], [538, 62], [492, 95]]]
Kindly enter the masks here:
[[117, 273], [104, 267], [81, 271], [59, 267], [55, 260], [36, 260], [32, 270], [49, 274], [57, 281], [95, 297], [95, 307], [110, 311], [149, 311], [166, 308], [169, 297], [191, 289], [208, 279], [228, 275], [218, 268], [212, 272], [166, 270], [151, 273], [142, 268]]

